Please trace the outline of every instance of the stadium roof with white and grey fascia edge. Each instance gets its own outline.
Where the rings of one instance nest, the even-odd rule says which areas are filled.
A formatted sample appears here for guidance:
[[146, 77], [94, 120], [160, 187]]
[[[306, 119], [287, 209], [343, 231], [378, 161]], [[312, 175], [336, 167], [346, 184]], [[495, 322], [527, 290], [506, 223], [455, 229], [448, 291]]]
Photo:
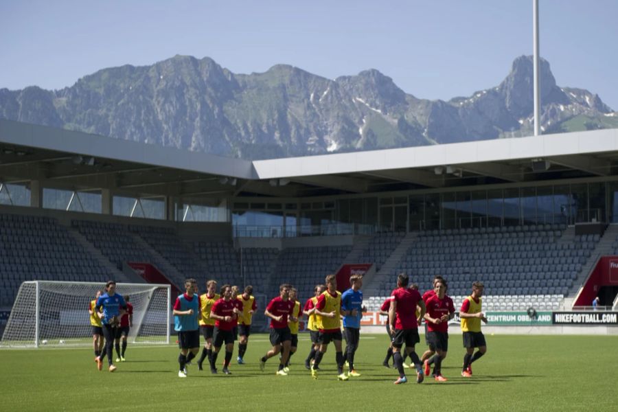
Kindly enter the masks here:
[[365, 194], [618, 174], [618, 130], [247, 161], [0, 119], [0, 181], [133, 196]]

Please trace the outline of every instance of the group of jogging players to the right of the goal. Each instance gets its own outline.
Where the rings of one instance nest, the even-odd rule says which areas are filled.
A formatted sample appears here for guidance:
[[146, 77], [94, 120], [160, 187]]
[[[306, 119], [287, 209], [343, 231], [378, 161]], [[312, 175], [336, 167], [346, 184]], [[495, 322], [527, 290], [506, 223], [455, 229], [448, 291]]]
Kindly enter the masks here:
[[[253, 288], [247, 286], [244, 293], [238, 295], [236, 286], [226, 284], [220, 288], [218, 294], [216, 281], [209, 280], [206, 284], [207, 293], [198, 296], [195, 279], [187, 279], [184, 286], [185, 293], [179, 295], [174, 304], [174, 330], [178, 332], [181, 349], [178, 360], [179, 377], [187, 376], [186, 365], [191, 363], [199, 352], [200, 331], [204, 336], [205, 345], [198, 361], [198, 368], [202, 370], [203, 362], [208, 359], [211, 373], [217, 374], [217, 356], [225, 343], [222, 371], [224, 374], [231, 374], [229, 363], [238, 334], [240, 341], [237, 361], [239, 364], [244, 363], [244, 353], [247, 351], [251, 334], [251, 318], [257, 310], [252, 295]], [[306, 315], [311, 347], [305, 359], [305, 367], [310, 370], [312, 378], [318, 378], [319, 365], [331, 342], [335, 348], [337, 379], [349, 380], [350, 377], [361, 376], [354, 368], [354, 354], [360, 340], [361, 317], [366, 311], [363, 306], [362, 286], [363, 276], [352, 275], [350, 288], [342, 294], [337, 290], [336, 277], [328, 275], [325, 284], [315, 286], [314, 297], [308, 299], [302, 309], [297, 301], [297, 290], [290, 284], [279, 286], [279, 296], [272, 299], [264, 310], [266, 317], [271, 319], [272, 347], [260, 358], [260, 369], [264, 371], [266, 361], [279, 355], [276, 374], [288, 375], [290, 357], [297, 352], [298, 347], [299, 319], [302, 315]], [[423, 382], [424, 376], [430, 374], [437, 382], [447, 380], [442, 375], [442, 361], [448, 352], [448, 321], [455, 316], [455, 306], [453, 300], [446, 295], [448, 285], [443, 277], [436, 276], [433, 286], [433, 290], [428, 290], [421, 297], [415, 284], [409, 286], [408, 276], [400, 274], [397, 288], [380, 309], [381, 314], [388, 316], [387, 332], [391, 339], [384, 365], [389, 367], [389, 359], [392, 356], [393, 366], [398, 369], [400, 375], [394, 382], [396, 385], [407, 382], [404, 369], [407, 356], [412, 361], [410, 367], [416, 369], [416, 382]], [[461, 376], [466, 378], [472, 376], [472, 363], [487, 350], [481, 332], [481, 321], [487, 322], [481, 311], [482, 296], [483, 284], [474, 282], [471, 295], [464, 299], [459, 310], [466, 348]], [[429, 349], [419, 358], [415, 352], [415, 345], [420, 342], [418, 326], [422, 320], [426, 325], [425, 339]], [[342, 346], [344, 336], [345, 350]], [[404, 346], [405, 350], [402, 352]], [[475, 353], [474, 348], [479, 350]], [[108, 345], [108, 357], [109, 353], [111, 344]], [[345, 365], [347, 372], [343, 371]]]

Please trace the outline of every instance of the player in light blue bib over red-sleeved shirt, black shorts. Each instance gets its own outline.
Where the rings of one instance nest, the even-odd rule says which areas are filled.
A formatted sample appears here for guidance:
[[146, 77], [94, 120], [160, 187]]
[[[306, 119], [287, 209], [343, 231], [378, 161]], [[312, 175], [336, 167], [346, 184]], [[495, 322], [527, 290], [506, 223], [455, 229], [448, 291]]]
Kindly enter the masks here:
[[187, 377], [187, 362], [190, 362], [200, 351], [200, 299], [194, 294], [195, 279], [185, 280], [185, 293], [176, 297], [174, 302], [174, 330], [178, 332], [179, 378]]

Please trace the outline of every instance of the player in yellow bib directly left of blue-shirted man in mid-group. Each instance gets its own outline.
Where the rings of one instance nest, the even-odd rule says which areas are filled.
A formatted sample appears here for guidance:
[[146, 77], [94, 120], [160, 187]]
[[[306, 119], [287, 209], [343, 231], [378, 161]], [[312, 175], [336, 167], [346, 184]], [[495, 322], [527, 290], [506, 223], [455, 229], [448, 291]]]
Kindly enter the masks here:
[[317, 379], [317, 367], [326, 353], [328, 344], [332, 341], [335, 346], [335, 360], [337, 363], [337, 379], [348, 380], [349, 376], [343, 373], [343, 352], [341, 350], [341, 292], [337, 290], [335, 275], [326, 277], [326, 290], [318, 297], [315, 306], [320, 323], [320, 350], [315, 354], [315, 361], [311, 367], [311, 377]]

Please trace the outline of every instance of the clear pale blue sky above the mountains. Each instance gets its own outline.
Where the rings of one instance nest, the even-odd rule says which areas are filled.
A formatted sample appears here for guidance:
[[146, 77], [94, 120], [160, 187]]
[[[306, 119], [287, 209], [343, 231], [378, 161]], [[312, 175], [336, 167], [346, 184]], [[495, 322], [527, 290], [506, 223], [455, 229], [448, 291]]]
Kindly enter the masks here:
[[[540, 0], [540, 50], [560, 86], [618, 110], [618, 1]], [[378, 69], [418, 98], [494, 87], [532, 54], [531, 0], [0, 2], [0, 88], [71, 86], [176, 54], [235, 73], [285, 63], [326, 78]]]

